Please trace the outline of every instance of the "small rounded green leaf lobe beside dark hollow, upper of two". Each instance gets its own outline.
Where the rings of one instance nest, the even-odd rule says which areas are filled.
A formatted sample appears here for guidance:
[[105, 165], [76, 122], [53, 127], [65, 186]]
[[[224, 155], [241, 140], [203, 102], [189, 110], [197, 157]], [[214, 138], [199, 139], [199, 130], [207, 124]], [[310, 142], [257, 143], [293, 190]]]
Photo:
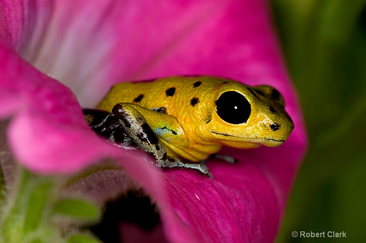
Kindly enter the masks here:
[[57, 201], [53, 212], [82, 220], [96, 220], [100, 216], [100, 208], [96, 204], [79, 198], [65, 198]]

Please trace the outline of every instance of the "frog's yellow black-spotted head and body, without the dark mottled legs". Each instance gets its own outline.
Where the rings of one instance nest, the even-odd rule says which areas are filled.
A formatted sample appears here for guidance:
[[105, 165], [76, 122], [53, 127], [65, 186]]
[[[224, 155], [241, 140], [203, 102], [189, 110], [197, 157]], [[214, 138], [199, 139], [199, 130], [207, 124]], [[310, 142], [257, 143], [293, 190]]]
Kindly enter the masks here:
[[[228, 91], [234, 92], [221, 99]], [[235, 121], [238, 124], [224, 121], [218, 113], [225, 112], [226, 106], [219, 101], [224, 100], [226, 104], [230, 97], [241, 101], [242, 96], [249, 102], [250, 110], [231, 118], [239, 119]], [[242, 149], [261, 145], [276, 147], [293, 129], [283, 97], [277, 90], [266, 85], [250, 87], [225, 78], [176, 76], [151, 82], [119, 83], [97, 108], [112, 112], [118, 103], [129, 120], [134, 122], [136, 117], [142, 117], [148, 123], [168, 156], [193, 162], [217, 153], [223, 145]], [[236, 112], [236, 103], [230, 103], [231, 106], [235, 106], [232, 111]], [[166, 108], [165, 113], [152, 110], [161, 107]], [[248, 105], [244, 105], [244, 110], [245, 107]], [[249, 116], [247, 120], [245, 114]], [[138, 126], [137, 123], [134, 125]]]

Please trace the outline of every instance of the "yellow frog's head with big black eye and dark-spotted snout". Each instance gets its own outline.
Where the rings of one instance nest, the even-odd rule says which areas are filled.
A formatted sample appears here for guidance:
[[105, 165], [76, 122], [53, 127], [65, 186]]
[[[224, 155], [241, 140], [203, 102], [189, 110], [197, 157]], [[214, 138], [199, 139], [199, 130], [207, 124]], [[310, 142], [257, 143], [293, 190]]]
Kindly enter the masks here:
[[275, 88], [237, 82], [218, 88], [212, 121], [206, 125], [213, 139], [236, 148], [276, 147], [293, 129], [284, 98]]

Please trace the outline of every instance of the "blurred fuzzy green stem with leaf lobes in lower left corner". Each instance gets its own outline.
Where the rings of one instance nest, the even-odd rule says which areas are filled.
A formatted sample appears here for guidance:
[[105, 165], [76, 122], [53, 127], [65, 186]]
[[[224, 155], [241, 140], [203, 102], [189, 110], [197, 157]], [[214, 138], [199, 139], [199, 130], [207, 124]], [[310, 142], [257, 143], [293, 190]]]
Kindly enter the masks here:
[[[81, 220], [99, 218], [99, 206], [86, 199], [58, 200], [56, 177], [33, 174], [23, 168], [19, 168], [17, 176], [18, 183], [7, 202], [0, 205], [0, 243], [99, 242], [91, 233], [75, 234]], [[69, 222], [55, 224], [55, 216], [68, 217]], [[65, 235], [65, 226], [75, 235]]]

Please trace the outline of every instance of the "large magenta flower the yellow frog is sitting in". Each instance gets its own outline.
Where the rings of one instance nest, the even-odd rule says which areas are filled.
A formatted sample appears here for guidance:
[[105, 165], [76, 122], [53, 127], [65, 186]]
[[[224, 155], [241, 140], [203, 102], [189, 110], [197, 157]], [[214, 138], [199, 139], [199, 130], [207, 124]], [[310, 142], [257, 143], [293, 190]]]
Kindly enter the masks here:
[[[13, 116], [8, 139], [19, 163], [65, 173], [114, 157], [160, 208], [168, 240], [273, 241], [307, 138], [266, 1], [2, 1], [0, 6], [5, 104], [0, 116]], [[224, 148], [239, 162], [209, 161], [213, 180], [190, 170], [158, 172], [141, 161], [141, 153], [97, 138], [72, 92], [12, 48], [88, 106], [126, 80], [210, 74], [269, 84], [283, 94], [295, 129], [278, 148]]]

